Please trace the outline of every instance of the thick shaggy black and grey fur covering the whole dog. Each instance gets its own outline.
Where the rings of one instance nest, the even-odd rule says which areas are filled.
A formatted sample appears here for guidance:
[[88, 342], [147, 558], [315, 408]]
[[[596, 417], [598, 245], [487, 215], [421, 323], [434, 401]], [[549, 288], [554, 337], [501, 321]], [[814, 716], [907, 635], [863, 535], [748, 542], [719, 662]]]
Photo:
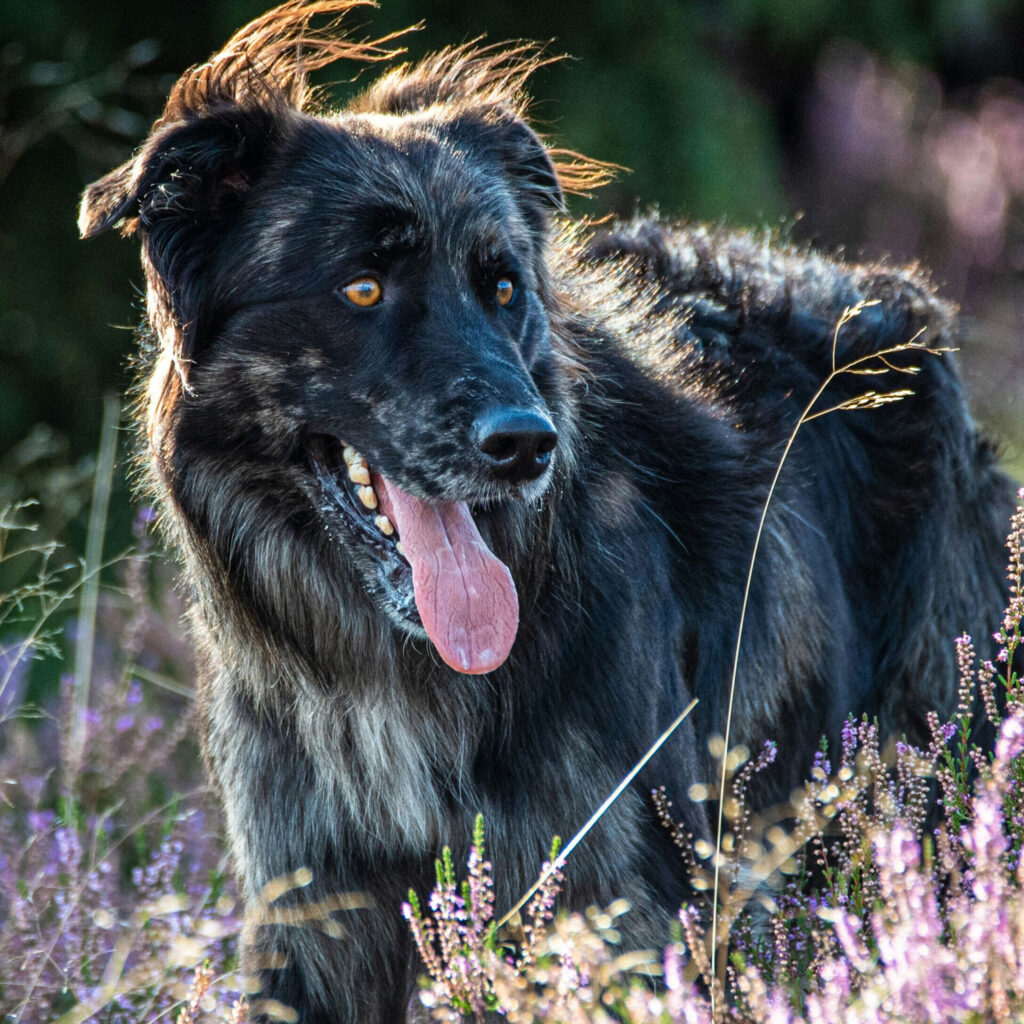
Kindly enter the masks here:
[[[709, 835], [687, 793], [715, 777], [707, 738], [760, 510], [837, 323], [877, 303], [840, 332], [840, 362], [956, 341], [913, 269], [656, 219], [569, 223], [563, 189], [601, 167], [527, 126], [529, 47], [456, 48], [340, 112], [304, 111], [307, 70], [387, 55], [310, 26], [350, 5], [285, 4], [187, 72], [81, 218], [86, 236], [120, 225], [142, 244], [140, 419], [195, 592], [234, 864], [254, 906], [271, 880], [312, 873], [275, 904], [291, 920], [250, 930], [246, 963], [303, 1024], [402, 1019], [399, 905], [440, 848], [464, 854], [482, 811], [508, 906], [552, 836], [696, 696], [566, 868], [566, 905], [625, 897], [626, 941], [664, 939], [686, 889], [648, 794], [667, 784]], [[368, 278], [383, 298], [361, 307], [345, 288]], [[762, 804], [850, 713], [921, 739], [926, 713], [954, 701], [951, 638], [1000, 607], [1008, 483], [952, 356], [895, 359], [921, 371], [841, 377], [822, 408], [912, 396], [809, 423], [771, 505], [732, 727], [779, 742]], [[496, 409], [553, 428], [554, 451], [503, 475], [479, 436]], [[343, 442], [417, 508], [468, 503], [518, 594], [500, 667], [442, 663], [394, 539], [368, 542], [342, 511]], [[336, 913], [341, 937], [297, 926], [353, 891], [373, 908]]]

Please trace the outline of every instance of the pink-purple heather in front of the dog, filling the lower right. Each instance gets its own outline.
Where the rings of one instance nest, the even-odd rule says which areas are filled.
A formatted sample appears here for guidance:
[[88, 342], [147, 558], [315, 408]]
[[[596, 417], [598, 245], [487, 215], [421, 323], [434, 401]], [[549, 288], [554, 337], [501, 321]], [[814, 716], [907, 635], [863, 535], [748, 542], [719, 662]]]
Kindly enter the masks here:
[[[872, 722], [851, 719], [835, 770], [822, 749], [786, 808], [790, 828], [744, 807], [744, 787], [773, 748], [755, 759], [729, 752], [730, 823], [718, 854], [694, 849], [664, 794], [654, 794], [698, 891], [710, 888], [706, 862], [721, 858], [727, 963], [712, 959], [706, 903], [681, 909], [680, 941], [664, 951], [618, 948], [623, 901], [545, 927], [558, 894], [549, 865], [520, 927], [500, 931], [478, 821], [468, 881], [457, 885], [445, 853], [429, 912], [415, 894], [404, 907], [427, 970], [420, 999], [431, 1018], [481, 1021], [499, 1010], [511, 1021], [552, 1024], [1024, 1019], [1024, 697], [1015, 668], [1024, 488], [1008, 550], [994, 658], [979, 664], [971, 638], [956, 639], [958, 707], [948, 722], [931, 717], [927, 748], [884, 746]], [[978, 716], [995, 732], [987, 753], [973, 738], [986, 724]], [[922, 835], [936, 787], [938, 821]], [[555, 853], [552, 862], [560, 863]]]

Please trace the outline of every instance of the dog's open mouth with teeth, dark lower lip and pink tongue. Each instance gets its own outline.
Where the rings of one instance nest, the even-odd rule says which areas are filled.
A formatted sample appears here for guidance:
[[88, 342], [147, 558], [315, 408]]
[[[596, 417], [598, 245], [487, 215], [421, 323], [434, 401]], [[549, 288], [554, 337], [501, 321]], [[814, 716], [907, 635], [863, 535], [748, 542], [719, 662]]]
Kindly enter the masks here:
[[375, 559], [392, 616], [421, 627], [456, 671], [497, 669], [512, 649], [519, 601], [469, 506], [402, 490], [342, 441], [319, 436], [306, 447], [328, 503], [323, 511]]

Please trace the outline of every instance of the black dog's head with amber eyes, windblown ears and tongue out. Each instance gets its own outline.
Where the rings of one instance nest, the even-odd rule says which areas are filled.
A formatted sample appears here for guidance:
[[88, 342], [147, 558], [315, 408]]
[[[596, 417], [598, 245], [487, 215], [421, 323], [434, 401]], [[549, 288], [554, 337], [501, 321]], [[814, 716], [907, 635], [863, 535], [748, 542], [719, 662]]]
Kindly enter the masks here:
[[560, 167], [527, 126], [528, 46], [445, 51], [307, 113], [306, 71], [391, 55], [310, 28], [352, 5], [294, 0], [187, 72], [80, 227], [141, 239], [148, 435], [179, 509], [203, 518], [199, 462], [287, 480], [382, 610], [486, 672], [518, 611], [478, 521], [557, 467], [549, 221], [562, 180], [600, 168]]

